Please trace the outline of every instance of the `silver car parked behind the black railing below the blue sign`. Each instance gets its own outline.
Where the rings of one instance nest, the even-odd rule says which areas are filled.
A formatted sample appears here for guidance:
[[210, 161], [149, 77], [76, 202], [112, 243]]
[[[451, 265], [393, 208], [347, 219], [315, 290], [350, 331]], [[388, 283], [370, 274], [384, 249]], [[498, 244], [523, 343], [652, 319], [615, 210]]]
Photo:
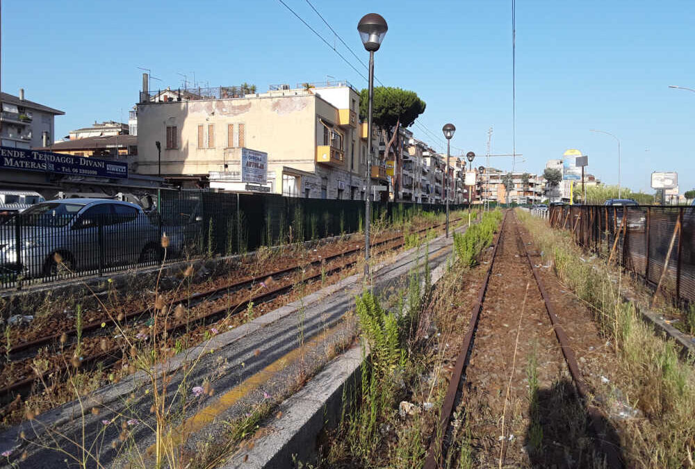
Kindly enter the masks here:
[[3, 273], [41, 277], [58, 274], [58, 261], [79, 271], [152, 263], [163, 256], [161, 233], [170, 240], [170, 252], [181, 252], [199, 228], [190, 225], [164, 222], [158, 213], [124, 201], [46, 201], [0, 225], [0, 266]]

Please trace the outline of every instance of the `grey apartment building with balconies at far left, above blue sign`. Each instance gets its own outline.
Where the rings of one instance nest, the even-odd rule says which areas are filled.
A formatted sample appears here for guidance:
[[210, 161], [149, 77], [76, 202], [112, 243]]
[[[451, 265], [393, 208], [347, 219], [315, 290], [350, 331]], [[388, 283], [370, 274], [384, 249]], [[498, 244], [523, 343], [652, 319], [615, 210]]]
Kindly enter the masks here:
[[24, 89], [19, 96], [0, 93], [0, 142], [3, 147], [36, 148], [47, 147], [55, 140], [54, 119], [65, 115], [62, 110], [24, 98]]

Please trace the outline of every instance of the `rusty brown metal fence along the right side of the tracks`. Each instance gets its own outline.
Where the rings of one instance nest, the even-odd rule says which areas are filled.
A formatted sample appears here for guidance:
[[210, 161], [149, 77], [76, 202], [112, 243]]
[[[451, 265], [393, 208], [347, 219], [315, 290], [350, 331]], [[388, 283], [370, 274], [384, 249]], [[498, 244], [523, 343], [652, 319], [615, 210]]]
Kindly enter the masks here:
[[695, 302], [695, 207], [551, 206], [550, 226], [567, 229], [678, 302]]

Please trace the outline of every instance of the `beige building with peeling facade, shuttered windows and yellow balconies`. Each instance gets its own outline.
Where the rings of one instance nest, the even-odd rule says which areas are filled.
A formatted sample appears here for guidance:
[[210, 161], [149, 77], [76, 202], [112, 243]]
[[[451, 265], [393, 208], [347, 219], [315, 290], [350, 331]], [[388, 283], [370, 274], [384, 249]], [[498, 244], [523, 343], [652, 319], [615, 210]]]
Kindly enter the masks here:
[[[219, 92], [217, 91], [219, 90]], [[240, 180], [240, 148], [268, 154], [270, 192], [295, 197], [361, 199], [367, 135], [359, 93], [347, 82], [270, 87], [229, 97], [208, 88], [183, 99], [138, 104], [139, 174], [161, 174], [182, 186]], [[147, 93], [145, 93], [147, 95]], [[384, 168], [373, 167], [379, 186]], [[378, 194], [377, 194], [378, 198]]]

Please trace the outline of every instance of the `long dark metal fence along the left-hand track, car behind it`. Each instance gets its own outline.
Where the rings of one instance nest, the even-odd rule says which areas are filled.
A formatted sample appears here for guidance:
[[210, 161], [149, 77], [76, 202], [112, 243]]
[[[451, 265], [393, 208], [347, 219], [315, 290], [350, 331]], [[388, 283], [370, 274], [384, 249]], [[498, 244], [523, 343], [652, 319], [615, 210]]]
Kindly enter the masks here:
[[[372, 213], [393, 222], [444, 209], [374, 202]], [[49, 202], [0, 214], [0, 288], [354, 233], [363, 216], [363, 201], [189, 190], [162, 191], [149, 212], [111, 200]]]

